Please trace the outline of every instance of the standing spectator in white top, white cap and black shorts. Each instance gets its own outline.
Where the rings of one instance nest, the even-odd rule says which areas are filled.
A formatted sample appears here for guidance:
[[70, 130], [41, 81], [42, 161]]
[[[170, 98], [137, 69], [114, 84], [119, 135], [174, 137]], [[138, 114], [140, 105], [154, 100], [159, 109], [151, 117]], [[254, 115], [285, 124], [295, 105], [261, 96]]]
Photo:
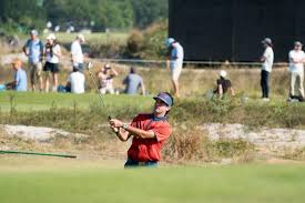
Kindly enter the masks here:
[[50, 72], [52, 73], [53, 88], [52, 91], [58, 89], [58, 73], [59, 73], [59, 59], [61, 57], [61, 48], [54, 34], [49, 34], [45, 44], [45, 64], [43, 71], [45, 74], [45, 92], [49, 92]]

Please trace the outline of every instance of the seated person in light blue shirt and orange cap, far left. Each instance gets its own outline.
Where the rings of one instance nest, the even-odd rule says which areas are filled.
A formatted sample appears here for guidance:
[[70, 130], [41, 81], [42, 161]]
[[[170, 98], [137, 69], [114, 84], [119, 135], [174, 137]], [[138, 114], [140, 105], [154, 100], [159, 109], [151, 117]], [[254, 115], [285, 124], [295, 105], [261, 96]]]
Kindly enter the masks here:
[[14, 70], [13, 81], [4, 85], [7, 90], [16, 90], [19, 92], [26, 92], [28, 89], [27, 73], [22, 69], [22, 62], [20, 59], [12, 61], [12, 68]]

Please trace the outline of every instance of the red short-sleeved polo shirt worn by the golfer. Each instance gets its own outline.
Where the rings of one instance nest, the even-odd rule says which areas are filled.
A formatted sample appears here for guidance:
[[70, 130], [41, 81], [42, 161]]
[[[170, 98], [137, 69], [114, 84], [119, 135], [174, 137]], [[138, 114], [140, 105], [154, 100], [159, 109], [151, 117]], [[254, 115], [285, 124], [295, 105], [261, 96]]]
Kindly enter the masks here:
[[154, 139], [133, 138], [128, 151], [130, 159], [139, 162], [160, 161], [164, 141], [171, 135], [172, 129], [166, 120], [153, 120], [152, 114], [139, 114], [133, 119], [131, 126], [153, 131]]

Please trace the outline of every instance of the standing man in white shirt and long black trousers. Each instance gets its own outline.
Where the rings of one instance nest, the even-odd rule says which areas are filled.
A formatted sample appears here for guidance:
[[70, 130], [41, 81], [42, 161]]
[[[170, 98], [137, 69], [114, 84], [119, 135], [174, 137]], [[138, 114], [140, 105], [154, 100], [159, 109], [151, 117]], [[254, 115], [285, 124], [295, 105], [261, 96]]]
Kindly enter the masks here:
[[270, 38], [265, 38], [262, 41], [264, 47], [264, 53], [261, 57], [262, 71], [261, 71], [261, 87], [262, 87], [262, 99], [264, 101], [270, 100], [270, 74], [272, 72], [273, 61], [274, 61], [274, 52], [272, 49], [272, 40]]

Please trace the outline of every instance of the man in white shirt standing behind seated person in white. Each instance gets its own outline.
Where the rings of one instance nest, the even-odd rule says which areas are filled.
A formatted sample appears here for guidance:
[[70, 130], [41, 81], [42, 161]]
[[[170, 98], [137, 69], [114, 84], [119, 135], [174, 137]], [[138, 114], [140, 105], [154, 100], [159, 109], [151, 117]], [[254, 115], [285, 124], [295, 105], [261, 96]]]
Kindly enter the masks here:
[[71, 44], [71, 57], [73, 67], [78, 68], [81, 72], [83, 72], [83, 52], [81, 44], [84, 43], [83, 34], [78, 34], [75, 41]]

